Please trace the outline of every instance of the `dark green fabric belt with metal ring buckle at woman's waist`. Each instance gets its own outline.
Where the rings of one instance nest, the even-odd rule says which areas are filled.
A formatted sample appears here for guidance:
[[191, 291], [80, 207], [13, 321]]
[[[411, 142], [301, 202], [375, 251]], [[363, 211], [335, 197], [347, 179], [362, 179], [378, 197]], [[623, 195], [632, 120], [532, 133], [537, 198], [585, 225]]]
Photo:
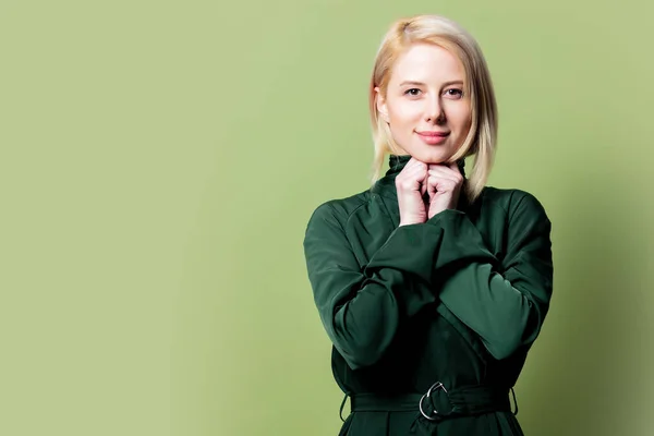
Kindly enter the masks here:
[[[516, 411], [511, 411], [509, 390], [513, 396]], [[497, 386], [462, 386], [453, 389], [437, 382], [426, 393], [354, 393], [349, 396], [352, 412], [419, 412], [429, 421], [448, 417], [475, 415], [491, 412], [511, 412], [518, 414], [518, 403], [513, 388]], [[346, 398], [341, 404], [342, 410]], [[344, 421], [344, 420], [343, 420]]]

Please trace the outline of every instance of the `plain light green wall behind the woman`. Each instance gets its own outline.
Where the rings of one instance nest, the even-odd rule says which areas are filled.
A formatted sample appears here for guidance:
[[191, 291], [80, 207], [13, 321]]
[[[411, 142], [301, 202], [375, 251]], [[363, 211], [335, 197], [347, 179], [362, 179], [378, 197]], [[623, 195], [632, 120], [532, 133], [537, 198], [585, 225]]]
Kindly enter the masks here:
[[528, 435], [651, 435], [652, 2], [3, 1], [0, 434], [335, 435], [302, 239], [399, 16], [459, 21], [554, 222]]

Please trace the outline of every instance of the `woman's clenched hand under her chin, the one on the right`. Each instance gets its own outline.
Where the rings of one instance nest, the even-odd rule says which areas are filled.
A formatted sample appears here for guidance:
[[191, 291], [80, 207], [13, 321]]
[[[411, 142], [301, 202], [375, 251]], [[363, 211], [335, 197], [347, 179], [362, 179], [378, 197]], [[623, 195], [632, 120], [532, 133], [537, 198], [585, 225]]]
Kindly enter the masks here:
[[457, 162], [429, 165], [427, 177], [429, 207], [427, 219], [445, 209], [456, 209], [463, 185], [463, 175]]

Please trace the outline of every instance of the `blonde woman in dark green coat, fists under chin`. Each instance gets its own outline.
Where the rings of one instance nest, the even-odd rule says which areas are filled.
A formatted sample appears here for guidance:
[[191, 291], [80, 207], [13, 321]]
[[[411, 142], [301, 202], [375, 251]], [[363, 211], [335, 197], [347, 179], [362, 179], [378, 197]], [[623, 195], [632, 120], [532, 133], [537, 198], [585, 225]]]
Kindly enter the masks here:
[[497, 109], [477, 44], [440, 16], [398, 21], [370, 109], [375, 178], [387, 154], [389, 170], [318, 206], [304, 239], [351, 400], [340, 434], [521, 435], [510, 392], [549, 306], [550, 222], [533, 195], [485, 186]]

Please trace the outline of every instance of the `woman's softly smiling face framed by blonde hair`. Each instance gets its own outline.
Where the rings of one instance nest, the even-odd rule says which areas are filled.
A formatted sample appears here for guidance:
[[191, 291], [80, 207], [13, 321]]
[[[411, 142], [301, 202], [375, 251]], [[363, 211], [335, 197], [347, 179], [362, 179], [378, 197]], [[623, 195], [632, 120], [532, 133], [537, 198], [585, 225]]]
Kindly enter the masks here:
[[472, 120], [463, 93], [465, 71], [448, 50], [414, 44], [395, 63], [377, 109], [404, 154], [426, 164], [448, 161], [465, 141]]

